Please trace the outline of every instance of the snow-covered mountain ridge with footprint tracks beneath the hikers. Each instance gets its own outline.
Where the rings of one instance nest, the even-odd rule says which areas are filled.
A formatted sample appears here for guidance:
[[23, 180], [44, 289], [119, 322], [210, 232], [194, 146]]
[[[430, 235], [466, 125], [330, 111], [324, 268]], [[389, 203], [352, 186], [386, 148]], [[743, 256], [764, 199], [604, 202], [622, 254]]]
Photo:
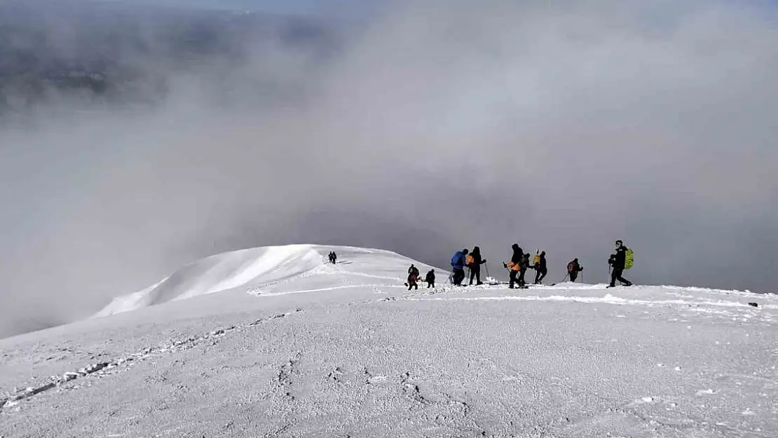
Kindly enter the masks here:
[[778, 436], [774, 295], [408, 292], [411, 262], [220, 254], [0, 340], [0, 436]]

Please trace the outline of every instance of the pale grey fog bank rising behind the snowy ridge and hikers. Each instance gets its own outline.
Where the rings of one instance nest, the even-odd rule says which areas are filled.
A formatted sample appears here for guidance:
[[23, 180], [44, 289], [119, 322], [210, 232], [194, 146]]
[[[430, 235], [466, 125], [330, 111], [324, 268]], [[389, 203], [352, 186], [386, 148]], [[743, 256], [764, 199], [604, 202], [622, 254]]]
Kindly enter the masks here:
[[440, 268], [480, 245], [503, 275], [518, 243], [548, 282], [572, 258], [604, 282], [622, 239], [633, 282], [775, 291], [776, 23], [737, 2], [394, 2], [324, 59], [263, 41], [229, 72], [166, 72], [161, 102], [17, 115], [0, 336], [269, 244]]

